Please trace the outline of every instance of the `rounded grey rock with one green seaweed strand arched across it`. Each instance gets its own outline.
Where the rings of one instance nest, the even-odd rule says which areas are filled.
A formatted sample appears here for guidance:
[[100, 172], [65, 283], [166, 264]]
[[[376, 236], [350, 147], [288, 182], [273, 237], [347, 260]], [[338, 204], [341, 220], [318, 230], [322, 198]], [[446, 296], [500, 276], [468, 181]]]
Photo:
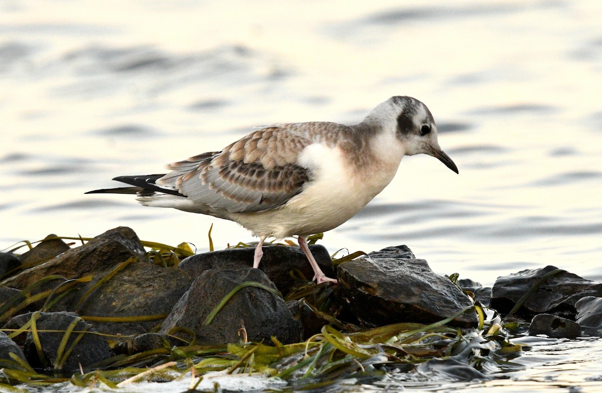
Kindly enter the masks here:
[[160, 333], [173, 327], [185, 327], [196, 334], [197, 342], [238, 342], [238, 329], [244, 324], [248, 341], [270, 343], [275, 336], [284, 344], [299, 342], [299, 325], [287, 309], [284, 300], [265, 289], [247, 286], [240, 289], [217, 313], [213, 321], [203, 326], [205, 318], [237, 285], [246, 281], [276, 288], [259, 269], [243, 266], [238, 269], [209, 269], [194, 280], [172, 312], [163, 322]]

